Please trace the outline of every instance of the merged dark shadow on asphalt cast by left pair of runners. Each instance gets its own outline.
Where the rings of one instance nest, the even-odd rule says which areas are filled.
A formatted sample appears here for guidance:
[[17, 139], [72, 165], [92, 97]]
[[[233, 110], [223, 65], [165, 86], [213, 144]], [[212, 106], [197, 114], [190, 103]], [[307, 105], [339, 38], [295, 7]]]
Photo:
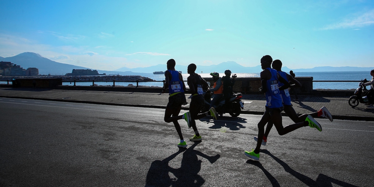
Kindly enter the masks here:
[[[194, 142], [191, 147], [180, 148], [176, 153], [163, 160], [155, 160], [147, 173], [145, 186], [189, 186], [199, 187], [205, 183], [205, 180], [198, 175], [201, 169], [202, 160], [199, 160], [197, 155], [207, 159], [210, 163], [214, 163], [220, 158], [220, 154], [215, 156], [208, 156], [200, 151], [194, 150], [201, 141]], [[180, 168], [172, 168], [169, 162], [178, 154], [183, 153]]]

